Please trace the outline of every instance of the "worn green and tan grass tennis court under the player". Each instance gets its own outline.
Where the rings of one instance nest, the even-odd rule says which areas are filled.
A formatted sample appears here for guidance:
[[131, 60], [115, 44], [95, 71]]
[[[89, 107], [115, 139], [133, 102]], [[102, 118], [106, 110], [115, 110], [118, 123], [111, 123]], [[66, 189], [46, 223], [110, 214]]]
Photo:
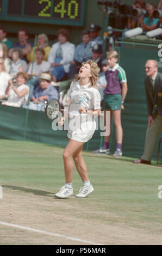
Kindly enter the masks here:
[[[57, 199], [54, 193], [65, 181], [63, 148], [0, 143], [0, 245], [161, 245], [161, 166], [84, 151], [95, 191], [83, 199]], [[81, 186], [74, 168], [74, 194]]]

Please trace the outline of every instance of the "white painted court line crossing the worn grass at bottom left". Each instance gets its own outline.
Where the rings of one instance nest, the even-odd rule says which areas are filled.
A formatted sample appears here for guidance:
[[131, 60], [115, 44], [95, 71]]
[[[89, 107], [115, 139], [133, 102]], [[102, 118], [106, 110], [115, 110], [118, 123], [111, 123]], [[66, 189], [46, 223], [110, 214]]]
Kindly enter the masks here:
[[38, 232], [40, 234], [64, 237], [65, 239], [69, 239], [69, 240], [73, 240], [73, 241], [90, 243], [90, 245], [102, 245], [101, 243], [95, 243], [95, 242], [91, 242], [91, 241], [86, 241], [86, 240], [82, 240], [82, 239], [79, 239], [79, 238], [74, 238], [74, 237], [66, 236], [66, 235], [60, 235], [60, 234], [57, 234], [57, 233], [51, 233], [51, 232], [47, 232], [47, 231], [43, 231], [43, 230], [39, 230], [39, 229], [23, 227], [21, 225], [15, 225], [15, 224], [3, 222], [3, 221], [0, 221], [0, 224], [1, 225], [7, 225], [7, 226], [13, 227], [13, 228], [20, 228], [20, 229], [25, 229], [25, 230], [29, 230], [29, 231], [34, 231], [34, 232]]

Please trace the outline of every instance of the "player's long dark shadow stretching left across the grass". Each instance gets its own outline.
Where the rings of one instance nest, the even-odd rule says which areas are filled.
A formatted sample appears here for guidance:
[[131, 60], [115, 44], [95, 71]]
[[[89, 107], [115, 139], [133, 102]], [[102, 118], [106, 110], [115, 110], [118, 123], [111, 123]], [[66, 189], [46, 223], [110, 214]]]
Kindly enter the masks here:
[[19, 191], [24, 191], [26, 193], [33, 193], [35, 195], [43, 196], [43, 197], [54, 197], [54, 193], [52, 192], [47, 192], [42, 190], [33, 190], [32, 188], [9, 186], [9, 185], [2, 185], [2, 187], [9, 188], [10, 190], [19, 190]]

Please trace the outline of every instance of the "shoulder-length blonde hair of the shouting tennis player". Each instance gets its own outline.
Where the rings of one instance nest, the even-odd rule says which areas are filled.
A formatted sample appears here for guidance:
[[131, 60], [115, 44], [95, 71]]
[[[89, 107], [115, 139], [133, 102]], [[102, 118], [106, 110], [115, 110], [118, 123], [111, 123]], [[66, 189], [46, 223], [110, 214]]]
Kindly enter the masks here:
[[[91, 77], [90, 77], [90, 82], [91, 82], [91, 85], [89, 87], [95, 87], [95, 88], [98, 88], [97, 87], [97, 80], [98, 80], [98, 75], [99, 75], [99, 71], [100, 71], [100, 68], [99, 66], [97, 65], [96, 62], [93, 62], [93, 60], [88, 60], [88, 62], [83, 62], [82, 63], [82, 66], [84, 64], [89, 64], [90, 65], [90, 68], [91, 68]], [[74, 79], [74, 81], [78, 81], [80, 78], [77, 77], [76, 79]]]

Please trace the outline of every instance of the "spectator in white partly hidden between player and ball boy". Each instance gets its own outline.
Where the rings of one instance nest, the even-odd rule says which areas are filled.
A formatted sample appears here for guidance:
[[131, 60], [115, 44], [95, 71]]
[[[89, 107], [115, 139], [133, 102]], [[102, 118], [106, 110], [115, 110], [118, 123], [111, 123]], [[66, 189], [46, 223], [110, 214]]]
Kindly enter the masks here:
[[104, 59], [104, 60], [102, 60], [102, 70], [99, 74], [99, 78], [97, 81], [98, 92], [101, 95], [101, 102], [103, 101], [104, 90], [105, 90], [105, 87], [107, 86], [107, 80], [105, 77], [105, 71], [107, 69], [109, 69], [108, 61], [107, 61], [107, 59]]

